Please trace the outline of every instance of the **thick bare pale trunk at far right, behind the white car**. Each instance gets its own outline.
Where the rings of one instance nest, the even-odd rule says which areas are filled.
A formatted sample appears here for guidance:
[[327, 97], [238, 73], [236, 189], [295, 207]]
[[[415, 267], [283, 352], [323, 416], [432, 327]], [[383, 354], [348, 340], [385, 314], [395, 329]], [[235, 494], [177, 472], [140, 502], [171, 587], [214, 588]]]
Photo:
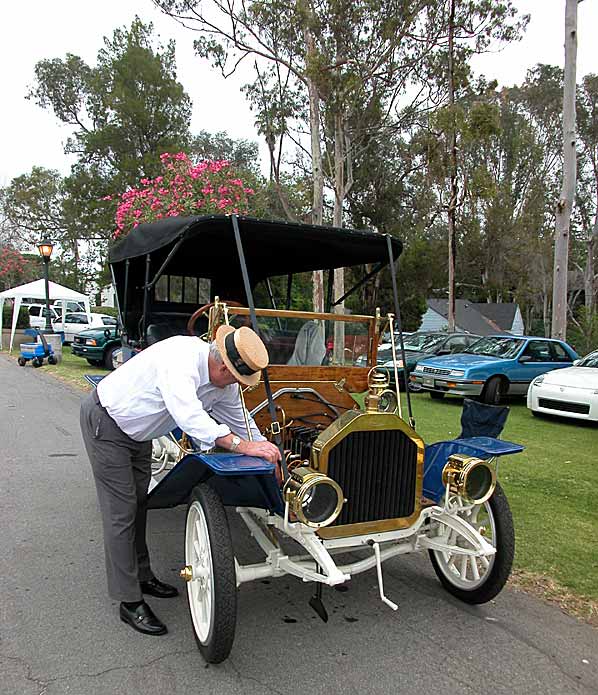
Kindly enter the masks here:
[[569, 223], [575, 197], [575, 88], [577, 61], [577, 0], [567, 0], [565, 9], [565, 82], [563, 89], [563, 184], [556, 206], [554, 273], [552, 280], [553, 338], [567, 337], [567, 269]]

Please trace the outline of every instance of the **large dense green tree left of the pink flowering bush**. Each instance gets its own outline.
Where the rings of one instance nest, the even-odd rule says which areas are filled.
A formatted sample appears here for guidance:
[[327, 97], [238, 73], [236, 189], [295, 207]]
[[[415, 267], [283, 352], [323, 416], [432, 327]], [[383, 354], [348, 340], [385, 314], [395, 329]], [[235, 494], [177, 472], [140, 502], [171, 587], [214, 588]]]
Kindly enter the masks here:
[[[157, 176], [160, 154], [189, 144], [191, 102], [176, 79], [174, 42], [154, 45], [152, 25], [135, 18], [104, 38], [95, 66], [71, 54], [40, 61], [29, 98], [73, 128], [65, 153], [77, 162], [60, 182], [61, 221], [50, 232], [68, 238], [78, 271], [92, 271], [103, 264], [112, 231], [115, 209], [106, 197]], [[29, 211], [20, 211], [29, 221], [47, 197], [34, 189], [38, 199], [30, 196]], [[89, 242], [83, 258], [81, 240]]]

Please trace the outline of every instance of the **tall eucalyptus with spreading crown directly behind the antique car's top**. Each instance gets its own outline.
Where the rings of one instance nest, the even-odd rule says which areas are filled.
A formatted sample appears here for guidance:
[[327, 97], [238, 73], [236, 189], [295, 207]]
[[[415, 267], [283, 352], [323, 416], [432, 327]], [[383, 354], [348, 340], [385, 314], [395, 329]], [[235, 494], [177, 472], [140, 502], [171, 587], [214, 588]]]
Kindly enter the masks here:
[[[384, 127], [391, 125], [397, 100], [436, 43], [437, 3], [154, 2], [199, 32], [198, 53], [211, 58], [224, 76], [242, 61], [254, 61], [256, 79], [248, 86], [248, 96], [268, 143], [275, 179], [281, 143], [287, 138], [310, 162], [312, 221], [319, 224], [324, 219], [328, 185], [334, 195], [332, 221], [342, 224], [362, 136], [360, 114], [374, 104], [385, 115]], [[323, 284], [321, 278], [315, 280], [314, 305], [321, 308]]]

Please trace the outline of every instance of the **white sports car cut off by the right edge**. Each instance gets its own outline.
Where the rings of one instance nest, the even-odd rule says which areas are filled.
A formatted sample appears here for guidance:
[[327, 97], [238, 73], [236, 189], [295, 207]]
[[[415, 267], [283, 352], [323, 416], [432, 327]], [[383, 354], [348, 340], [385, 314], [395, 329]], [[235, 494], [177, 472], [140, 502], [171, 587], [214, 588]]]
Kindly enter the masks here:
[[561, 415], [598, 421], [598, 350], [573, 367], [541, 374], [530, 384], [527, 407], [533, 415]]

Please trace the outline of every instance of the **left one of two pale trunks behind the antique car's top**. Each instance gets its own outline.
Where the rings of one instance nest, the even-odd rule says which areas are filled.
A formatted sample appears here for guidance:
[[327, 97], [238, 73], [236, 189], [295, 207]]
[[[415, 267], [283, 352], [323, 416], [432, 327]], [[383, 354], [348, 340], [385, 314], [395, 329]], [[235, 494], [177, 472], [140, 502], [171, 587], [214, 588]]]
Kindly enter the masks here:
[[[313, 34], [306, 27], [303, 31], [307, 49], [307, 65], [314, 63], [316, 48]], [[308, 75], [309, 130], [311, 135], [311, 167], [313, 176], [312, 224], [322, 224], [324, 211], [324, 172], [322, 170], [322, 145], [320, 138], [320, 94], [314, 80]], [[324, 311], [324, 274], [321, 270], [313, 273], [314, 311]]]

